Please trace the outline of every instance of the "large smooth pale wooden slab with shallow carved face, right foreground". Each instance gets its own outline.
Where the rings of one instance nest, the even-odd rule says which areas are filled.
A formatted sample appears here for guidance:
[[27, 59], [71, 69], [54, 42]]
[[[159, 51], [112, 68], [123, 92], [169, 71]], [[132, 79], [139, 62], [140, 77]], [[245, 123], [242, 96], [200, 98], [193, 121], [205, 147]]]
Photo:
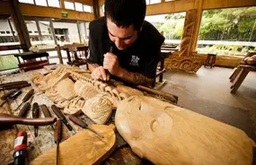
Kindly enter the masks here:
[[161, 100], [121, 101], [115, 124], [133, 152], [154, 164], [252, 164], [243, 131]]

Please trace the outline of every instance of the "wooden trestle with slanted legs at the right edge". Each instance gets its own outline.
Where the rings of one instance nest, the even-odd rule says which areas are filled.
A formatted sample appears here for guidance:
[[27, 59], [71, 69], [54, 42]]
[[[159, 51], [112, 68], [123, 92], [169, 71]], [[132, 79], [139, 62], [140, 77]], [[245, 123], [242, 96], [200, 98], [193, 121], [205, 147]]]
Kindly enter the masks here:
[[231, 86], [231, 93], [235, 93], [239, 89], [239, 87], [243, 83], [243, 80], [250, 71], [256, 71], [256, 65], [249, 65], [246, 62], [246, 59], [248, 59], [248, 57], [254, 55], [256, 55], [256, 52], [249, 53], [247, 56], [245, 56], [241, 61], [240, 65], [238, 65], [234, 69], [234, 73], [231, 74], [231, 76], [229, 77], [230, 82], [233, 83]]

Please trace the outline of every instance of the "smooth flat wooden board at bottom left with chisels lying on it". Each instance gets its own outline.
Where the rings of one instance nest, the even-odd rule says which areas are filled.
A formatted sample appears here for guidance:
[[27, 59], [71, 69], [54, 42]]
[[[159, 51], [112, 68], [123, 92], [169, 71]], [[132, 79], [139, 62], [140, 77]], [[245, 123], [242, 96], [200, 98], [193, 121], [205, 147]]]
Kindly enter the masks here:
[[[59, 144], [59, 164], [100, 164], [113, 152], [116, 143], [114, 126], [93, 125], [91, 128], [102, 134], [104, 139], [87, 129], [81, 130], [78, 134]], [[55, 154], [56, 147], [40, 155], [30, 164], [54, 164]]]

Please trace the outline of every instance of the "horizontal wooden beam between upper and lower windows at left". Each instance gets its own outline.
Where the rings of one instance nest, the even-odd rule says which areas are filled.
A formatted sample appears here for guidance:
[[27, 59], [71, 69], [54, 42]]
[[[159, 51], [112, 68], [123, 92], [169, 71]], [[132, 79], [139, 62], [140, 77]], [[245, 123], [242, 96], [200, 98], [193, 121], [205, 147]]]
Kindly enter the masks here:
[[[23, 15], [38, 16], [38, 17], [49, 17], [49, 18], [60, 18], [69, 20], [81, 20], [81, 21], [92, 21], [94, 20], [93, 13], [77, 12], [74, 10], [66, 10], [55, 7], [44, 7], [33, 4], [19, 4]], [[67, 17], [62, 17], [61, 13], [67, 12]]]

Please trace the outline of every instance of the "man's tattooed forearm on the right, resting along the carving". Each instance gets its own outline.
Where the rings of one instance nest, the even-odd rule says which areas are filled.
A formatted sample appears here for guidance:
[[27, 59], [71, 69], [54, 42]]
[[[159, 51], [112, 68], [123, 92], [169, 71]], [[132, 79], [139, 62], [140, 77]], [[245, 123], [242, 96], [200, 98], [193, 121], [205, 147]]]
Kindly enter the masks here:
[[142, 74], [129, 72], [126, 69], [122, 69], [118, 77], [128, 83], [133, 83], [136, 85], [151, 86], [154, 82], [154, 79], [147, 78]]

